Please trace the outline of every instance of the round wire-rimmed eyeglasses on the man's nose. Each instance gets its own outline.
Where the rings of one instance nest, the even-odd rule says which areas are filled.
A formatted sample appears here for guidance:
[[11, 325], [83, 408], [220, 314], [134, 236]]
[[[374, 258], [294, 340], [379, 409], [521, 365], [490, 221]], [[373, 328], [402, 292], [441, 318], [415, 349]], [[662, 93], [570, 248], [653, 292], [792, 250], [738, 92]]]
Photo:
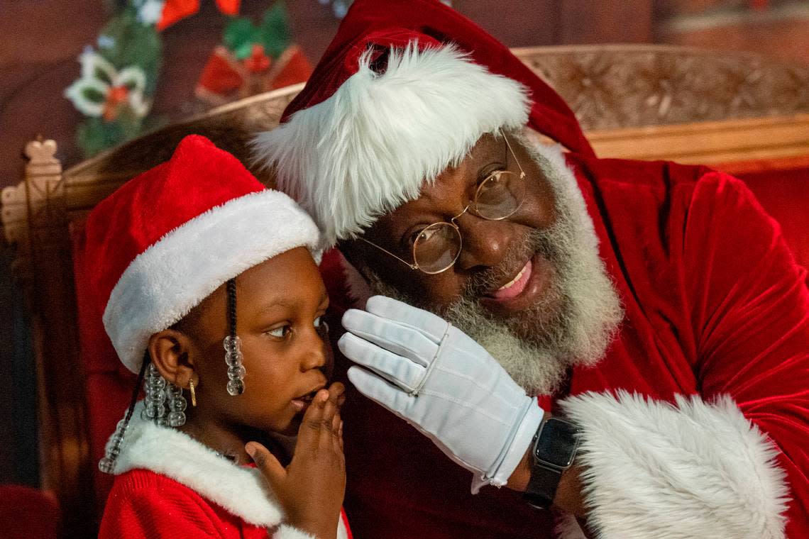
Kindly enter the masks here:
[[[455, 220], [469, 211], [487, 221], [502, 221], [514, 215], [525, 198], [525, 171], [519, 164], [514, 149], [506, 137], [506, 133], [500, 130], [503, 140], [511, 157], [514, 158], [519, 175], [511, 171], [493, 171], [477, 185], [475, 196], [467, 204], [464, 211], [452, 217], [449, 221], [438, 221], [427, 225], [419, 230], [413, 240], [413, 262], [408, 262], [394, 255], [391, 251], [370, 242], [365, 238], [359, 238], [368, 245], [375, 246], [379, 251], [383, 251], [393, 258], [406, 264], [410, 269], [419, 270], [434, 275], [446, 272], [455, 265], [460, 257], [460, 251], [464, 246], [464, 238], [460, 234], [460, 228], [455, 224]], [[507, 162], [506, 162], [507, 165]]]

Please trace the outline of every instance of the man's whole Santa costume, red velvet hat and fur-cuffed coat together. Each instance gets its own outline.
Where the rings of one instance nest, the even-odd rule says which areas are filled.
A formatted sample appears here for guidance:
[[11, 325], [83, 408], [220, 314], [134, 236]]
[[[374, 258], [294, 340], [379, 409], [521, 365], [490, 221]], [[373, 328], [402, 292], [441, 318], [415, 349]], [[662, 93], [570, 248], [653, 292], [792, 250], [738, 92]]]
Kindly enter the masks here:
[[[468, 56], [452, 57], [453, 47]], [[527, 88], [522, 119], [504, 79]], [[540, 400], [582, 429], [591, 526], [621, 539], [758, 539], [784, 537], [786, 520], [787, 537], [809, 537], [805, 271], [737, 180], [595, 158], [549, 86], [430, 0], [354, 2], [256, 154], [334, 241], [417, 198], [483, 133], [525, 125], [570, 150], [539, 151], [567, 175], [625, 309], [599, 363]], [[332, 305], [347, 307], [341, 263], [326, 262]], [[358, 537], [554, 537], [550, 512], [507, 489], [471, 495], [467, 471], [361, 395], [349, 394], [345, 418], [345, 503]], [[560, 520], [557, 535], [581, 537]]]

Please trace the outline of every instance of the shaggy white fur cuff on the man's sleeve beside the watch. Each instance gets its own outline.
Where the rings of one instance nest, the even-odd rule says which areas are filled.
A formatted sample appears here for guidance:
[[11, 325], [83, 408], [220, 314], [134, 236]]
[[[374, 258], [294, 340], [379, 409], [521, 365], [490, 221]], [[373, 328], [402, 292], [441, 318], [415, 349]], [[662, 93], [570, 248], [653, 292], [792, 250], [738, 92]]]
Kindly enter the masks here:
[[588, 393], [562, 408], [582, 428], [577, 461], [598, 537], [784, 537], [777, 448], [730, 397]]

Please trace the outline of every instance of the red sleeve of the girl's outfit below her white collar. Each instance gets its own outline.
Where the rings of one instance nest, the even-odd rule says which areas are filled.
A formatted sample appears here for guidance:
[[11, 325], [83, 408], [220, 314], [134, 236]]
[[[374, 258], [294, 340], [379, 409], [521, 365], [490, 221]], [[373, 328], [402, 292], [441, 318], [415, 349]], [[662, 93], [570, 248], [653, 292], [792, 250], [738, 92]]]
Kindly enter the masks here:
[[186, 486], [144, 470], [116, 477], [100, 539], [227, 537], [210, 504]]

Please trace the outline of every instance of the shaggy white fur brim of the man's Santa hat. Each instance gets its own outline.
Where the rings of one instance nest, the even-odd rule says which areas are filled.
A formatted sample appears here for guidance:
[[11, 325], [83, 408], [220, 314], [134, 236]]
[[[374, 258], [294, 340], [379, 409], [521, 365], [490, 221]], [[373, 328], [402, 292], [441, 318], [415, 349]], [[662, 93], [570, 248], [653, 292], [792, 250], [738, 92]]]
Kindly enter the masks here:
[[382, 74], [370, 64], [371, 51], [332, 96], [252, 143], [328, 246], [416, 199], [481, 135], [527, 123], [526, 88], [452, 45], [392, 48]]

